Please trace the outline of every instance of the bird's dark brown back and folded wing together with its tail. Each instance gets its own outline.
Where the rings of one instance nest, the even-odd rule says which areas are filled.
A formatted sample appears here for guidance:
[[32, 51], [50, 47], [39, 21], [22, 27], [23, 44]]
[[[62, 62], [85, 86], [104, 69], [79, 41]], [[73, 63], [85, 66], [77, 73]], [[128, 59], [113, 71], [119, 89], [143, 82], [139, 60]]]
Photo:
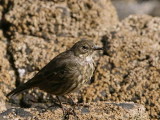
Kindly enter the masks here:
[[[16, 89], [11, 91], [7, 96], [13, 96], [26, 89], [33, 87], [46, 86], [49, 81], [57, 84], [62, 84], [65, 82], [64, 75], [67, 77], [67, 69], [71, 69], [75, 66], [74, 62], [71, 61], [71, 53], [61, 53], [54, 59], [52, 59], [45, 67], [43, 67], [32, 79], [28, 80], [26, 83], [21, 84]], [[69, 67], [70, 66], [70, 67]], [[75, 68], [75, 67], [74, 67]], [[67, 74], [67, 75], [66, 75]]]

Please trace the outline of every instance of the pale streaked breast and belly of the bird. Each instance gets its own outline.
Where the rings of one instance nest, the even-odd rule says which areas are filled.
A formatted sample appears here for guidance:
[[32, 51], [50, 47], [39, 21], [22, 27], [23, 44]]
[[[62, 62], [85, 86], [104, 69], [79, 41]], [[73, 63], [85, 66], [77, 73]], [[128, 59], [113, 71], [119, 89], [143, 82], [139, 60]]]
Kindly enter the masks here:
[[[65, 95], [79, 90], [87, 81], [91, 79], [94, 69], [95, 67], [92, 59], [90, 59], [89, 61], [80, 61], [76, 66], [76, 69], [71, 71], [72, 74], [70, 74], [70, 77], [68, 77], [68, 79], [66, 80], [67, 83], [62, 84], [60, 87], [58, 87], [56, 89], [57, 91], [53, 94]], [[62, 88], [63, 92], [61, 92], [60, 94], [60, 92], [58, 91], [62, 90]]]

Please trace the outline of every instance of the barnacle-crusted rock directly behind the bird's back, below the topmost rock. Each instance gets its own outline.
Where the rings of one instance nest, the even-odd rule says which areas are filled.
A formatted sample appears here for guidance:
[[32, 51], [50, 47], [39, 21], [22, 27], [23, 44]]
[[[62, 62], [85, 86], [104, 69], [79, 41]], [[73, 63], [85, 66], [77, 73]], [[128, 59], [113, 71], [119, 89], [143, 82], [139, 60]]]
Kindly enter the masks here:
[[[73, 37], [58, 37], [53, 38], [52, 40], [45, 40], [43, 38], [21, 35], [17, 33], [14, 37], [12, 37], [9, 51], [11, 51], [13, 54], [14, 65], [17, 68], [19, 75], [19, 82], [24, 83], [28, 81], [52, 58], [66, 49], [69, 49], [78, 40], [80, 40], [80, 38]], [[98, 58], [98, 56], [95, 57], [95, 59]], [[39, 99], [41, 100], [49, 99], [46, 97], [52, 97], [50, 95], [48, 96], [44, 92], [44, 94], [42, 94], [42, 91], [37, 89], [31, 91], [27, 92], [27, 95], [25, 93], [22, 98], [23, 102], [27, 104], [27, 106], [28, 104], [29, 106], [31, 105], [30, 102], [28, 103], [28, 101], [30, 101], [30, 99], [32, 100], [34, 97], [40, 97]], [[29, 95], [30, 93], [32, 93], [33, 96]], [[17, 101], [16, 98], [13, 98], [13, 101]]]

